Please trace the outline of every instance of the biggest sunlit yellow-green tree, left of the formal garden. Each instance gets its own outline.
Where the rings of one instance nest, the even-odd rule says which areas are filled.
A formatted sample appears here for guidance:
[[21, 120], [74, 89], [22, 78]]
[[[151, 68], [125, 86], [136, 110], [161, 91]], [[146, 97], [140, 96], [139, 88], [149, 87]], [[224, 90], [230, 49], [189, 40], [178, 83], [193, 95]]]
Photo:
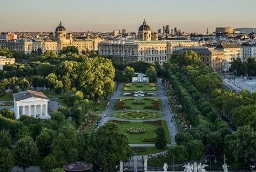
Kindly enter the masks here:
[[86, 58], [80, 66], [80, 87], [97, 104], [100, 103], [100, 97], [106, 97], [113, 92], [113, 79], [114, 67], [110, 59]]

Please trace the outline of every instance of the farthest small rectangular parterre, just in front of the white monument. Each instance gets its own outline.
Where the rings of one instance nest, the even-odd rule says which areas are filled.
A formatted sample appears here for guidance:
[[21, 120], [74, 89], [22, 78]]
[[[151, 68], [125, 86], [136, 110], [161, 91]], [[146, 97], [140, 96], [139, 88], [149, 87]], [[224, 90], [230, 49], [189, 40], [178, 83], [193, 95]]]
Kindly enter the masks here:
[[124, 91], [157, 91], [156, 83], [128, 83], [124, 85]]

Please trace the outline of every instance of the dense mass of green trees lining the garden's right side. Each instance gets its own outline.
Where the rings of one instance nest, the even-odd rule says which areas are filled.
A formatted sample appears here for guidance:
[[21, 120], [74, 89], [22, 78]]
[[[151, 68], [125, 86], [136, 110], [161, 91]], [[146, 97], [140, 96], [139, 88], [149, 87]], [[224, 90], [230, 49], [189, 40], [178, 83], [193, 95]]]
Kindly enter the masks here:
[[[220, 77], [200, 64], [196, 53], [174, 54], [171, 61], [177, 63], [179, 67], [166, 63], [164, 64], [165, 73], [172, 70], [172, 72], [169, 71], [172, 86], [193, 126], [188, 133], [181, 132], [176, 135], [178, 145], [184, 145], [187, 148], [191, 140], [201, 140], [205, 146], [207, 145], [207, 152], [210, 154], [232, 155], [235, 161], [244, 159], [254, 161], [256, 155], [253, 129], [255, 94], [245, 90], [240, 93], [222, 90]], [[232, 65], [238, 62], [239, 60], [234, 60]], [[236, 69], [238, 70], [238, 67]], [[203, 99], [202, 94], [206, 95], [213, 106]], [[218, 111], [213, 111], [214, 108]], [[236, 132], [230, 134], [227, 123], [217, 117], [220, 113], [225, 114], [232, 121], [234, 129], [237, 129]], [[172, 152], [175, 151], [172, 150]], [[192, 158], [191, 154], [188, 154], [188, 157]]]

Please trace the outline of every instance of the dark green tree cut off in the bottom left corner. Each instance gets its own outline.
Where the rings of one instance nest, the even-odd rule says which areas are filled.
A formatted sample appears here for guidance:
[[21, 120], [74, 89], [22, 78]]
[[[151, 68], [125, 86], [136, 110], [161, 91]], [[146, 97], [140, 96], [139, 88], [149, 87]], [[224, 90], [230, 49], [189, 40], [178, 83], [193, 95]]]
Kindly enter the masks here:
[[9, 148], [0, 147], [0, 171], [10, 172], [14, 166], [14, 157]]

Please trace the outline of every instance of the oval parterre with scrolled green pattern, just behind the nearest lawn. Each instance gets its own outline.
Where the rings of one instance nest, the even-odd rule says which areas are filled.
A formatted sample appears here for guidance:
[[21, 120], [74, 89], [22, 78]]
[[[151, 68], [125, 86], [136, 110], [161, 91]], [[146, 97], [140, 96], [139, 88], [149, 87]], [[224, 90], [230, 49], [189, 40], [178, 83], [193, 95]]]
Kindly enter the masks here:
[[161, 118], [164, 116], [164, 114], [157, 113], [157, 112], [148, 112], [148, 111], [125, 111], [125, 112], [113, 113], [111, 116], [120, 118], [120, 119], [127, 119], [127, 120], [144, 120], [144, 119], [148, 120], [148, 119]]

